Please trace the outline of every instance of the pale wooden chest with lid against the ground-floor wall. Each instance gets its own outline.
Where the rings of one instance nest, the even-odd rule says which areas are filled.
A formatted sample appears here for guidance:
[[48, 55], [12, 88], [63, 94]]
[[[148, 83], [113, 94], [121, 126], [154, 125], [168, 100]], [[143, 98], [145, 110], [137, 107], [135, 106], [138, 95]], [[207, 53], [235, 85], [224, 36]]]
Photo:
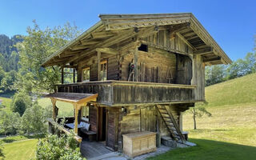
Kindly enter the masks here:
[[123, 134], [123, 152], [130, 157], [146, 154], [157, 150], [156, 133], [144, 131]]

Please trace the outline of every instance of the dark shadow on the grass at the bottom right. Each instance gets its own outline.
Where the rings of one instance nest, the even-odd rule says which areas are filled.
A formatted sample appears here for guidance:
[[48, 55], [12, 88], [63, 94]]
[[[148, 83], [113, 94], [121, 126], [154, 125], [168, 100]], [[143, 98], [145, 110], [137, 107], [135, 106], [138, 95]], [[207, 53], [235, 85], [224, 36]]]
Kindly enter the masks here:
[[154, 159], [255, 159], [256, 158], [256, 147], [255, 146], [244, 146], [229, 142], [218, 142], [206, 139], [194, 139], [190, 138], [190, 142], [194, 142], [197, 146], [188, 148], [178, 148], [170, 150], [165, 154], [158, 155]]

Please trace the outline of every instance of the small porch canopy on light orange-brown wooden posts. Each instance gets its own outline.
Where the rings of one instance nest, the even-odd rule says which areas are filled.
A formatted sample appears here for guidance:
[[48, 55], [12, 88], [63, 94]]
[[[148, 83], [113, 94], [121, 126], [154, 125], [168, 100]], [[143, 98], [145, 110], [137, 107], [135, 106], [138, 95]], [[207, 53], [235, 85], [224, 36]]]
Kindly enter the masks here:
[[69, 102], [73, 104], [74, 115], [74, 133], [78, 134], [78, 110], [81, 110], [82, 106], [86, 106], [87, 102], [96, 102], [98, 94], [78, 94], [78, 93], [54, 93], [47, 94], [45, 97], [50, 98], [53, 103], [53, 118], [56, 118], [56, 102]]

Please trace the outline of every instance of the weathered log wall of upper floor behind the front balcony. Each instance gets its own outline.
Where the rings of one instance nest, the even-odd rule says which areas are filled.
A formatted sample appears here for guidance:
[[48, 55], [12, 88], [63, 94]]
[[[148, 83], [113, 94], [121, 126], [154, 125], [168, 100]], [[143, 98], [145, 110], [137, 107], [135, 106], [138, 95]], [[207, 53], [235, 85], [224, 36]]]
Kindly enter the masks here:
[[[129, 64], [134, 60], [134, 54], [126, 54], [122, 58], [121, 80], [127, 81]], [[165, 50], [149, 48], [148, 52], [138, 51], [138, 82], [174, 83], [176, 73], [176, 55]], [[167, 79], [169, 78], [169, 79]], [[132, 81], [132, 80], [131, 80]]]

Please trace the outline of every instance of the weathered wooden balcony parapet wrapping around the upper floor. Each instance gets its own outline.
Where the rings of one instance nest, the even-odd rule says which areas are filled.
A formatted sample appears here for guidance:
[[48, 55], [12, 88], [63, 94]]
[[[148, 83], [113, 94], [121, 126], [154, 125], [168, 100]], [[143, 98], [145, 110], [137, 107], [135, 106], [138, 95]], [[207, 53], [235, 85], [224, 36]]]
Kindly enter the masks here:
[[196, 86], [154, 82], [78, 82], [58, 85], [58, 92], [98, 94], [97, 102], [106, 106], [195, 102]]

